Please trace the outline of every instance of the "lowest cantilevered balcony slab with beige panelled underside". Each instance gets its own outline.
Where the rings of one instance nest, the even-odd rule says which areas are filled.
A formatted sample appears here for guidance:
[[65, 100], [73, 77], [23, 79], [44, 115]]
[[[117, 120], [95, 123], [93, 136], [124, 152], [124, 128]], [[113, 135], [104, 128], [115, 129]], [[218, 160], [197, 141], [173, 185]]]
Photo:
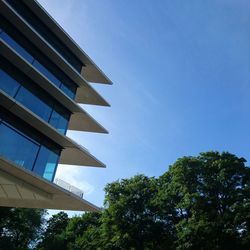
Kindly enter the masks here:
[[100, 208], [0, 157], [0, 206], [100, 211]]

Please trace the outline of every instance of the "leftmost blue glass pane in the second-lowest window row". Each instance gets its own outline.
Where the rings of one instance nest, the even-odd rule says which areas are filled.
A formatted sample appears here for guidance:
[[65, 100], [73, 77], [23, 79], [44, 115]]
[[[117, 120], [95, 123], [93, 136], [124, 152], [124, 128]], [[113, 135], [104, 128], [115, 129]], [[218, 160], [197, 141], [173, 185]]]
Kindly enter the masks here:
[[0, 89], [9, 94], [10, 96], [14, 96], [18, 90], [20, 84], [10, 77], [6, 72], [0, 69]]

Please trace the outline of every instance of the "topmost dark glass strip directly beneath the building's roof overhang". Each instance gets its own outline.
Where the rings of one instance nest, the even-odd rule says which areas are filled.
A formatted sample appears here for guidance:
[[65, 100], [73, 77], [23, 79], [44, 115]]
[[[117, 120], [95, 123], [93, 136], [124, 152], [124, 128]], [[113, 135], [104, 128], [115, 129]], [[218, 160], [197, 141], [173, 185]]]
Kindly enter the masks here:
[[66, 47], [61, 40], [26, 6], [25, 1], [7, 0], [7, 2], [25, 19], [76, 71], [81, 73], [82, 62]]

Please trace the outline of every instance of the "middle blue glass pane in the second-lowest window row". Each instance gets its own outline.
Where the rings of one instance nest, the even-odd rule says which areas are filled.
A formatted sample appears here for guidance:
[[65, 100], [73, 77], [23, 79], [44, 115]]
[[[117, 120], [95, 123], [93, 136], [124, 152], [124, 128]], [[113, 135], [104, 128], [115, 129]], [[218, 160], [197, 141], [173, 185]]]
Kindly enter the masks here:
[[21, 87], [15, 99], [45, 121], [49, 120], [52, 108], [24, 87]]

